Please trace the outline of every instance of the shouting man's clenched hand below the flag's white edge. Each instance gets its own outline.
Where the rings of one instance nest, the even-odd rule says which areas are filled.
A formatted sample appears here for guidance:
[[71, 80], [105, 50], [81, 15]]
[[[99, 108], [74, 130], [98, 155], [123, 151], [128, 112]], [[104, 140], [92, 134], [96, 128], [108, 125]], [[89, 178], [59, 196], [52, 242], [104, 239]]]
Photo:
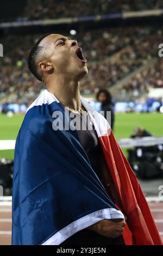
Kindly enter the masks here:
[[87, 229], [96, 231], [98, 234], [106, 237], [115, 238], [122, 235], [125, 224], [125, 221], [122, 219], [102, 220], [87, 227]]

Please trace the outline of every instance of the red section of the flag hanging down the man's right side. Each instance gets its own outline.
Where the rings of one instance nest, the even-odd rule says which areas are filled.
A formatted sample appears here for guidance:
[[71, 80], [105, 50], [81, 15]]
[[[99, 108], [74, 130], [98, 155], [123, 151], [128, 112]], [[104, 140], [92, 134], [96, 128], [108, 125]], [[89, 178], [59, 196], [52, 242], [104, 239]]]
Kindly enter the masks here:
[[99, 140], [122, 203], [121, 210], [127, 216], [123, 231], [126, 245], [163, 245], [139, 182], [112, 131]]

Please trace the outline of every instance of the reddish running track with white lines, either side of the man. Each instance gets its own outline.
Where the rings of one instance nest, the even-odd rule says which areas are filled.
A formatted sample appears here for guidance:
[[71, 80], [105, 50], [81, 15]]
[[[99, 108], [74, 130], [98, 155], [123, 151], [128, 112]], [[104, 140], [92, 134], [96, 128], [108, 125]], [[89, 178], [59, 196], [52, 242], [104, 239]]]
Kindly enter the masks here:
[[[163, 239], [163, 203], [149, 203]], [[0, 205], [0, 245], [11, 245], [11, 206]]]

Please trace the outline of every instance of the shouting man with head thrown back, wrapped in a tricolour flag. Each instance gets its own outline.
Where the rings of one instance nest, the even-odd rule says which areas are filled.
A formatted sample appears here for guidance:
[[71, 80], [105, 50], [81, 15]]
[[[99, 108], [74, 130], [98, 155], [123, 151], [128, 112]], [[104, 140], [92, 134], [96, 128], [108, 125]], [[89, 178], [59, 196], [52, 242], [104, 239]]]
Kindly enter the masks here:
[[77, 41], [42, 36], [28, 66], [46, 90], [16, 140], [12, 245], [161, 244], [108, 122], [80, 96], [88, 71]]

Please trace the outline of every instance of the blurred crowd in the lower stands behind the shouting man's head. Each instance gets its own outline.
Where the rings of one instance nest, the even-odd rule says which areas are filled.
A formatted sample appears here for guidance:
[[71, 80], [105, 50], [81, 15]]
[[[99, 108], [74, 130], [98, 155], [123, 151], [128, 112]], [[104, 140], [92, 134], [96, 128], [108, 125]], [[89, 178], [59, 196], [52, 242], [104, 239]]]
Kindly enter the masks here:
[[[63, 33], [64, 34], [64, 33]], [[40, 35], [2, 38], [4, 57], [0, 58], [0, 103], [30, 102], [44, 88], [27, 68], [30, 47]], [[70, 36], [69, 36], [70, 37]], [[75, 36], [83, 47], [89, 74], [81, 82], [82, 94], [95, 94], [98, 89], [114, 86], [141, 66], [158, 58], [158, 45], [163, 41], [163, 29], [125, 27], [94, 29]], [[163, 87], [160, 58], [125, 84], [124, 90], [148, 90], [148, 85]], [[137, 95], [139, 96], [139, 94]]]

